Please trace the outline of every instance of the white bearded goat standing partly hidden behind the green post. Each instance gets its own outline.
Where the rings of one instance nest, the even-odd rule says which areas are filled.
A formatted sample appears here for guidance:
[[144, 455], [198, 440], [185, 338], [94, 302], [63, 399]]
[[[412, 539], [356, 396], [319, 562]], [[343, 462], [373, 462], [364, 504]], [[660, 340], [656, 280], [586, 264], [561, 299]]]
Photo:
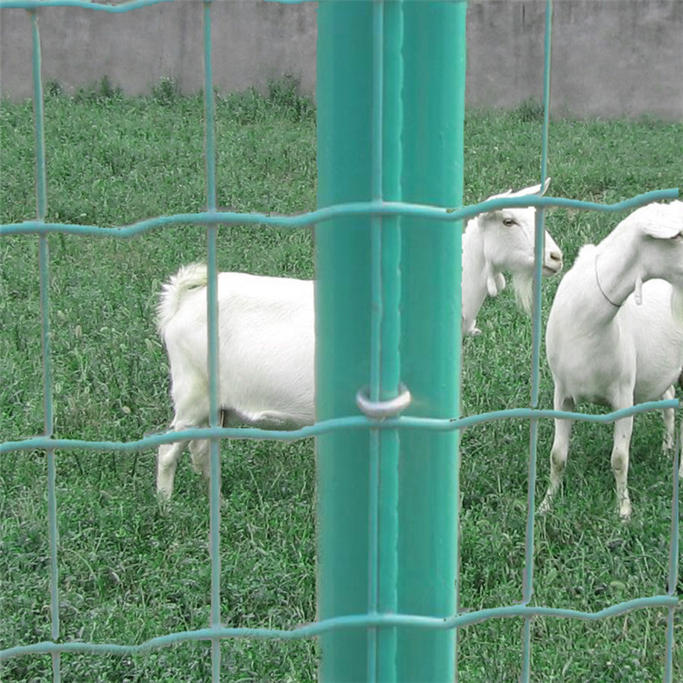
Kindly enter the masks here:
[[[547, 187], [547, 185], [546, 185]], [[540, 186], [512, 195], [533, 194]], [[494, 199], [494, 198], [490, 198]], [[463, 237], [463, 333], [486, 295], [513, 273], [518, 300], [528, 309], [534, 267], [535, 209], [499, 209], [469, 221]], [[562, 268], [562, 252], [545, 233], [544, 272]], [[181, 268], [164, 285], [158, 331], [171, 371], [174, 430], [209, 423], [207, 270]], [[315, 320], [313, 281], [219, 273], [219, 402], [228, 423], [297, 429], [314, 422]], [[169, 499], [184, 443], [158, 449], [157, 491]], [[209, 477], [209, 443], [189, 442], [196, 470]]]

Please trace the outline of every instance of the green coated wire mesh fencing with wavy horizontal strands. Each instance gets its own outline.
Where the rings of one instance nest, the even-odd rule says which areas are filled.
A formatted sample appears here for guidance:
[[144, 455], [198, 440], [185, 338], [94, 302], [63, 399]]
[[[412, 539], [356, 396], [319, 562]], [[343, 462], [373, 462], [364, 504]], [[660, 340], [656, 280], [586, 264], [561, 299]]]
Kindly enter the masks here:
[[[541, 347], [541, 269], [543, 261], [543, 234], [545, 209], [548, 207], [564, 207], [572, 209], [591, 209], [596, 211], [622, 211], [645, 205], [651, 201], [673, 199], [678, 197], [678, 190], [667, 189], [648, 192], [631, 199], [612, 205], [596, 204], [593, 202], [576, 201], [571, 199], [534, 197], [518, 199], [494, 199], [481, 204], [464, 207], [463, 209], [434, 208], [418, 206], [401, 202], [384, 202], [381, 199], [381, 183], [373, 184], [372, 201], [353, 202], [350, 204], [337, 205], [326, 209], [318, 209], [306, 215], [274, 217], [261, 213], [243, 214], [231, 211], [217, 210], [216, 199], [216, 139], [214, 133], [215, 111], [213, 97], [213, 80], [211, 69], [211, 2], [205, 0], [202, 5], [204, 18], [204, 60], [205, 60], [205, 143], [206, 143], [206, 206], [207, 210], [199, 213], [176, 214], [168, 217], [143, 220], [138, 223], [117, 228], [103, 229], [91, 225], [74, 225], [63, 223], [48, 223], [46, 218], [46, 161], [45, 161], [45, 133], [44, 133], [44, 97], [41, 82], [41, 54], [40, 38], [38, 30], [38, 15], [45, 6], [72, 6], [84, 7], [93, 11], [108, 13], [129, 12], [139, 7], [155, 5], [160, 2], [172, 2], [173, 0], [134, 0], [121, 5], [102, 5], [88, 2], [87, 0], [0, 0], [0, 9], [24, 8], [28, 10], [33, 31], [33, 77], [34, 77], [34, 112], [36, 131], [36, 219], [21, 223], [5, 224], [0, 226], [0, 235], [38, 235], [39, 236], [39, 273], [40, 273], [40, 303], [42, 324], [42, 348], [43, 348], [43, 384], [44, 384], [44, 413], [45, 432], [35, 438], [8, 441], [0, 444], [0, 454], [11, 451], [34, 451], [46, 453], [47, 457], [47, 505], [50, 544], [50, 591], [51, 591], [51, 640], [46, 642], [28, 643], [7, 647], [0, 651], [0, 658], [15, 658], [30, 656], [32, 654], [46, 654], [52, 656], [53, 678], [60, 679], [60, 654], [66, 652], [81, 652], [91, 654], [129, 655], [151, 650], [157, 647], [166, 647], [171, 644], [189, 640], [210, 640], [212, 643], [212, 677], [220, 678], [220, 649], [219, 642], [223, 638], [250, 637], [250, 638], [280, 638], [284, 640], [317, 637], [332, 629], [348, 627], [418, 627], [425, 629], [458, 629], [468, 625], [474, 625], [485, 619], [495, 617], [524, 617], [525, 627], [523, 631], [523, 662], [522, 680], [531, 677], [531, 621], [536, 616], [547, 617], [572, 617], [586, 620], [596, 620], [624, 614], [630, 610], [644, 607], [663, 607], [668, 610], [667, 621], [667, 649], [664, 670], [664, 680], [669, 683], [673, 680], [673, 633], [674, 612], [678, 607], [676, 585], [678, 577], [678, 474], [674, 474], [671, 506], [671, 537], [669, 543], [669, 566], [668, 566], [668, 594], [659, 596], [642, 597], [627, 600], [611, 607], [594, 613], [581, 612], [571, 609], [559, 609], [551, 607], [534, 607], [530, 604], [532, 596], [532, 581], [534, 572], [534, 521], [535, 521], [535, 459], [537, 445], [537, 424], [540, 419], [558, 416], [555, 411], [538, 409], [539, 393], [539, 365]], [[287, 3], [292, 0], [281, 0]], [[296, 2], [297, 0], [293, 0]], [[377, 21], [375, 25], [374, 39], [382, 39], [382, 2], [375, 3]], [[550, 47], [552, 25], [552, 1], [547, 0], [545, 9], [545, 60], [544, 60], [544, 122], [543, 122], [543, 149], [541, 183], [547, 177], [547, 143], [549, 130], [549, 92], [550, 92]], [[377, 54], [380, 54], [378, 51]], [[374, 69], [382, 69], [382, 60], [377, 59]], [[381, 82], [381, 78], [379, 79]], [[373, 121], [373, 139], [377, 140], [382, 131], [382, 117], [379, 111], [375, 111]], [[381, 156], [381, 146], [374, 150], [376, 155]], [[221, 225], [251, 225], [265, 224], [280, 228], [301, 228], [319, 224], [326, 220], [367, 216], [372, 217], [427, 217], [433, 220], [446, 221], [455, 224], [456, 221], [468, 219], [485, 209], [496, 209], [509, 206], [535, 206], [536, 212], [536, 242], [535, 242], [535, 289], [533, 298], [533, 352], [532, 352], [532, 395], [530, 408], [518, 408], [514, 410], [499, 411], [495, 413], [482, 413], [455, 420], [417, 418], [410, 415], [384, 420], [372, 421], [362, 416], [347, 416], [339, 419], [319, 422], [311, 427], [305, 427], [295, 432], [262, 432], [257, 429], [228, 429], [220, 427], [219, 400], [217, 373], [209, 372], [212, 378], [209, 387], [210, 394], [210, 426], [207, 429], [190, 429], [180, 433], [157, 434], [142, 438], [138, 441], [127, 443], [95, 442], [76, 439], [53, 438], [53, 382], [50, 349], [50, 326], [49, 326], [49, 280], [50, 280], [50, 255], [48, 249], [48, 236], [54, 233], [65, 233], [79, 237], [111, 237], [115, 239], [130, 239], [148, 230], [158, 229], [174, 224], [203, 225], [207, 229], [207, 254], [209, 267], [209, 367], [216, 367], [218, 363], [218, 329], [216, 324], [217, 311], [217, 235]], [[373, 228], [374, 230], [374, 228]], [[375, 240], [380, 249], [381, 240]], [[375, 266], [380, 262], [380, 252], [375, 253]], [[375, 277], [380, 278], [378, 272]], [[376, 292], [382, 290], [382, 281], [375, 281]], [[373, 348], [381, 341], [381, 327], [377, 319], [373, 319]], [[374, 365], [373, 365], [374, 368]], [[371, 382], [371, 398], [377, 398], [377, 382], [375, 372]], [[590, 415], [583, 413], [561, 413], [561, 416], [570, 416], [575, 420], [585, 422], [609, 423], [619, 417], [635, 413], [654, 411], [663, 407], [678, 407], [678, 401], [659, 401], [643, 403], [606, 415]], [[408, 614], [377, 613], [359, 614], [345, 617], [335, 617], [310, 625], [292, 628], [291, 630], [268, 629], [268, 628], [228, 628], [221, 626], [220, 614], [220, 507], [219, 507], [219, 442], [220, 439], [278, 439], [294, 440], [307, 436], [330, 433], [336, 430], [369, 430], [378, 433], [382, 429], [430, 429], [434, 431], [463, 430], [465, 427], [475, 424], [507, 418], [525, 418], [531, 425], [530, 429], [530, 455], [529, 455], [529, 479], [528, 479], [528, 510], [526, 524], [525, 544], [525, 571], [523, 580], [523, 599], [521, 604], [479, 609], [452, 617], [434, 618], [420, 617]], [[371, 430], [371, 428], [373, 428]], [[163, 637], [156, 637], [143, 643], [134, 645], [116, 645], [110, 643], [85, 643], [85, 642], [61, 642], [59, 622], [59, 594], [58, 594], [58, 557], [57, 557], [57, 525], [56, 525], [56, 468], [55, 452], [59, 449], [80, 449], [97, 451], [138, 451], [158, 446], [160, 443], [171, 443], [178, 439], [189, 441], [199, 436], [210, 439], [210, 527], [209, 545], [211, 556], [211, 610], [208, 627], [184, 632], [169, 633]], [[678, 454], [677, 454], [678, 459]], [[678, 464], [674, 464], [674, 472], [678, 473]], [[380, 475], [373, 479], [373, 487], [380, 485]], [[376, 525], [375, 525], [376, 526]], [[376, 534], [372, 536], [373, 543], [377, 543]], [[376, 552], [376, 550], [375, 550]]]

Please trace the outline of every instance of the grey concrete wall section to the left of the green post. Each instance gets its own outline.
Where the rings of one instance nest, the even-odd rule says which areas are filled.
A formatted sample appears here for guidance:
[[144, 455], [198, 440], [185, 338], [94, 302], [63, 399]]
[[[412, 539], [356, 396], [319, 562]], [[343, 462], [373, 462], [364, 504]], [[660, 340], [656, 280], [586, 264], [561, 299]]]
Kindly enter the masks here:
[[[55, 78], [70, 90], [106, 75], [127, 93], [139, 95], [169, 77], [184, 92], [197, 92], [204, 79], [202, 15], [202, 3], [191, 0], [122, 14], [41, 9], [43, 79]], [[0, 21], [3, 93], [31, 97], [29, 17], [24, 10], [5, 9]], [[286, 74], [299, 78], [306, 92], [315, 88], [315, 6], [215, 2], [211, 26], [213, 76], [220, 91], [265, 85]]]

